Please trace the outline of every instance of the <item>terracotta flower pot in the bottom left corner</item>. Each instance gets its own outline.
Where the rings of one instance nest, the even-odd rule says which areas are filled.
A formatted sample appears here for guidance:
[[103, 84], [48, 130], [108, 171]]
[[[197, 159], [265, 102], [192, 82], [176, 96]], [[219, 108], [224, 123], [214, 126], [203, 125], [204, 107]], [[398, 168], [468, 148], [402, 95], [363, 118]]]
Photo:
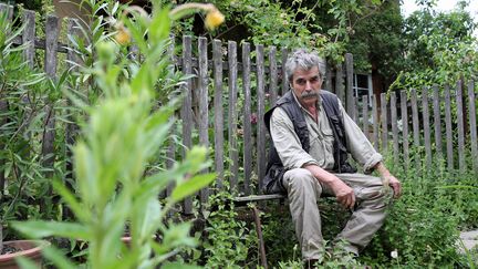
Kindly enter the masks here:
[[15, 241], [4, 241], [3, 246], [11, 246], [21, 251], [14, 254], [0, 255], [0, 268], [2, 269], [17, 269], [20, 268], [17, 265], [15, 258], [24, 257], [35, 262], [39, 267], [42, 265], [41, 250], [50, 246], [49, 241], [44, 240], [15, 240]]

